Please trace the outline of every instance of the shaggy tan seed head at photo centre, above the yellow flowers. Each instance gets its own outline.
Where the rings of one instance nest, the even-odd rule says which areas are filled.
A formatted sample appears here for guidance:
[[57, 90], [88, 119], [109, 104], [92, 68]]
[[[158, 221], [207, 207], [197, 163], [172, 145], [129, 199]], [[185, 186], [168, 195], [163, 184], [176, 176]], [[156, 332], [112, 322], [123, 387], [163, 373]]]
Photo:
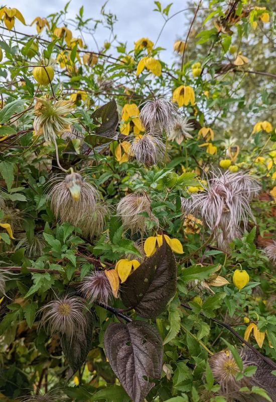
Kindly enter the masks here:
[[[148, 218], [141, 215], [145, 212]], [[151, 210], [151, 200], [146, 194], [133, 193], [123, 197], [117, 205], [117, 216], [121, 218], [124, 229], [130, 229], [132, 234], [140, 232], [143, 235], [147, 231], [147, 219], [152, 219], [158, 225]]]

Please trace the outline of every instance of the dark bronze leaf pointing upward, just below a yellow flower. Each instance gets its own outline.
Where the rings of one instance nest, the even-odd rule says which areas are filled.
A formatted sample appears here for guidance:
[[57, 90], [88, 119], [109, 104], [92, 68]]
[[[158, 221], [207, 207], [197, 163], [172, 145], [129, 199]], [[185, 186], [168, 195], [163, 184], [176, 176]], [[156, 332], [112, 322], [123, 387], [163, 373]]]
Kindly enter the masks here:
[[162, 246], [137, 268], [121, 286], [121, 299], [144, 318], [162, 313], [176, 292], [175, 256], [163, 238]]

